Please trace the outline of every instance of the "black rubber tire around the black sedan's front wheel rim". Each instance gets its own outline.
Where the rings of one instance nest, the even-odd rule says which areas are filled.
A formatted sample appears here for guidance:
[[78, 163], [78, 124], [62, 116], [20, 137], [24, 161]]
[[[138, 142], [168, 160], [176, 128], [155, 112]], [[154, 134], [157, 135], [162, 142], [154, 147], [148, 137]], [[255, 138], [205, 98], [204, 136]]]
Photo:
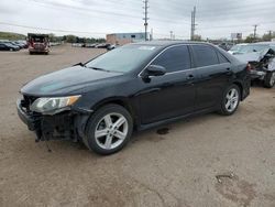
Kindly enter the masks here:
[[[119, 113], [125, 118], [125, 120], [128, 122], [128, 132], [127, 132], [127, 137], [124, 138], [124, 140], [122, 141], [122, 143], [120, 145], [118, 145], [117, 148], [113, 148], [113, 149], [103, 149], [98, 144], [98, 142], [96, 140], [95, 132], [96, 132], [96, 128], [98, 127], [98, 124], [100, 123], [102, 118], [107, 115], [110, 115], [110, 113]], [[132, 131], [133, 131], [133, 120], [132, 120], [132, 117], [129, 113], [129, 111], [119, 105], [110, 103], [110, 105], [106, 105], [106, 106], [99, 108], [90, 117], [90, 119], [86, 126], [85, 138], [82, 141], [84, 141], [84, 144], [89, 150], [92, 150], [94, 152], [101, 154], [101, 155], [108, 155], [108, 154], [116, 153], [116, 152], [120, 151], [122, 148], [124, 148], [132, 135]]]

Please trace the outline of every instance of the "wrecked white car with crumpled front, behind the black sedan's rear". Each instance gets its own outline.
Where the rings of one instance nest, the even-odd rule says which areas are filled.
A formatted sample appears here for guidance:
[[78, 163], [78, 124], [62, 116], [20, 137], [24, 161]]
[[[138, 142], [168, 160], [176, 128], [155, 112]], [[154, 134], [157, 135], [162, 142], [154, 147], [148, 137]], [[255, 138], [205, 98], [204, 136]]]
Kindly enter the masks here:
[[234, 56], [250, 64], [252, 81], [261, 80], [266, 88], [275, 85], [275, 43], [262, 42], [242, 46]]

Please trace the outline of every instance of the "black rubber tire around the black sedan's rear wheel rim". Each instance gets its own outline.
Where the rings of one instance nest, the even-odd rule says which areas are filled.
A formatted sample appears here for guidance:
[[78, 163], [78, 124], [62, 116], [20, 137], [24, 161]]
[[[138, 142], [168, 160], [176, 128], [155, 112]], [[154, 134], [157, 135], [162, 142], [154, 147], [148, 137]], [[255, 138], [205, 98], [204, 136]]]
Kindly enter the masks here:
[[[238, 100], [237, 100], [237, 105], [233, 108], [233, 110], [229, 110], [227, 108], [227, 102], [228, 102], [227, 96], [228, 96], [229, 91], [232, 90], [232, 89], [235, 89], [235, 91], [238, 92]], [[237, 111], [238, 107], [239, 107], [240, 100], [241, 100], [240, 88], [239, 88], [239, 86], [237, 86], [235, 84], [233, 84], [233, 85], [231, 85], [230, 87], [228, 87], [224, 90], [224, 92], [222, 95], [222, 100], [221, 100], [221, 103], [220, 103], [220, 110], [218, 112], [220, 115], [223, 115], [223, 116], [231, 116], [231, 115], [233, 115]]]

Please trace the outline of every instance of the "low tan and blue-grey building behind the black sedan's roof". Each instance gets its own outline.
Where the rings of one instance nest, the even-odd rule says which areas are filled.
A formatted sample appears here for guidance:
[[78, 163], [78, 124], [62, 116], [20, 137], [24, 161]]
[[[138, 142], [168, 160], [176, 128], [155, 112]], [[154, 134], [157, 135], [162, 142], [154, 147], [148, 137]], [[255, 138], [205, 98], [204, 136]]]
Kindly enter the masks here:
[[106, 42], [109, 44], [124, 45], [129, 43], [145, 41], [144, 32], [136, 33], [113, 33], [106, 35]]

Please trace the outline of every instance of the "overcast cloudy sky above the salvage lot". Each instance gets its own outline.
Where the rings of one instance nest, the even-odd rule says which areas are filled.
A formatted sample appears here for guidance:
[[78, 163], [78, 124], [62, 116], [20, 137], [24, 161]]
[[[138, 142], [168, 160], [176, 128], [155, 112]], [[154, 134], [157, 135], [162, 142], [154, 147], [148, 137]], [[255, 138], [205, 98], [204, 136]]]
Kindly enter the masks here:
[[[148, 29], [155, 37], [188, 39], [190, 12], [197, 6], [197, 31], [204, 37], [230, 37], [232, 32], [248, 35], [275, 30], [274, 0], [150, 0]], [[105, 36], [113, 32], [143, 32], [142, 0], [1, 0], [0, 31], [51, 32], [7, 25], [51, 29], [57, 35]], [[72, 31], [72, 32], [62, 32]], [[78, 32], [77, 32], [78, 31]], [[86, 33], [87, 32], [87, 33]]]

